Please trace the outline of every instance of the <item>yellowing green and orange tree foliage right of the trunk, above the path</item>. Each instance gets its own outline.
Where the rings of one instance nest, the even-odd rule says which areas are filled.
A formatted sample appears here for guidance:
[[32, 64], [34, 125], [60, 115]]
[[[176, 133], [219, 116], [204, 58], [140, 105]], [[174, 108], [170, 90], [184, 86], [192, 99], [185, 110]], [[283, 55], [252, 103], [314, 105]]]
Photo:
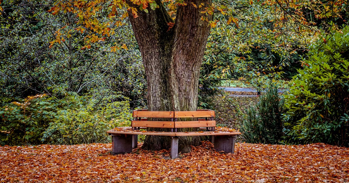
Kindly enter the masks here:
[[[214, 1], [215, 14], [201, 75], [204, 81], [241, 79], [249, 87], [262, 75], [291, 78], [317, 35], [346, 22], [347, 1]], [[217, 8], [218, 10], [218, 8]], [[216, 11], [218, 12], [218, 11]], [[212, 68], [212, 69], [207, 69]]]

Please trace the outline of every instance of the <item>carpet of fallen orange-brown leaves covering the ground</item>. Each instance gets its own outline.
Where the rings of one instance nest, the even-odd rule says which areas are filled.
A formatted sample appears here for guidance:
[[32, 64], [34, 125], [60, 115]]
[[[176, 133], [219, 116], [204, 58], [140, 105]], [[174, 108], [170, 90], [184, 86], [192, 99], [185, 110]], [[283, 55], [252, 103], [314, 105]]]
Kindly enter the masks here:
[[111, 155], [111, 144], [1, 146], [0, 182], [347, 182], [349, 148], [326, 144], [237, 143], [235, 153], [203, 142]]

